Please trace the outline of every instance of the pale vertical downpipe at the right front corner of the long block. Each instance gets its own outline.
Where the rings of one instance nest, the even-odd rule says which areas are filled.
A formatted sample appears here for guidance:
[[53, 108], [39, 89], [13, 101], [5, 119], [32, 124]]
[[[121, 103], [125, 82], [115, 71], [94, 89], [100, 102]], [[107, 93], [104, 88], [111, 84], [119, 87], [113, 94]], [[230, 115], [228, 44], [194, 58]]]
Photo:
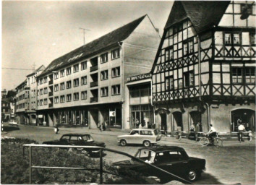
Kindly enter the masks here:
[[[125, 116], [124, 116], [124, 113], [125, 113], [125, 111], [124, 111], [124, 109], [125, 109], [125, 106], [126, 105], [124, 105], [125, 104], [125, 102], [124, 102], [124, 95], [125, 95], [125, 90], [124, 90], [124, 43], [123, 42], [117, 42], [118, 43], [118, 45], [121, 47], [121, 80], [122, 80], [122, 82], [121, 82], [121, 90], [122, 90], [122, 93], [121, 93], [121, 103], [122, 103], [122, 108], [121, 108], [121, 110], [122, 110], [122, 113], [121, 113], [121, 116], [122, 116], [122, 126], [121, 126], [121, 128], [122, 128], [122, 130], [124, 130], [124, 123], [125, 123]], [[122, 44], [121, 44], [122, 43]]]

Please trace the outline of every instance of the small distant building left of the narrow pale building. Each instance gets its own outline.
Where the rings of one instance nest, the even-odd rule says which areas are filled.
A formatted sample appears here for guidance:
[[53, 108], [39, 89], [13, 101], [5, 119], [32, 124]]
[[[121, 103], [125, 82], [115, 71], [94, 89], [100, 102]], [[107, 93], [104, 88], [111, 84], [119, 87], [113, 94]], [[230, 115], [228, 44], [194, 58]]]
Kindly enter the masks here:
[[29, 88], [27, 87], [27, 79], [16, 87], [16, 105], [15, 105], [15, 119], [18, 124], [27, 124], [27, 103], [29, 103]]

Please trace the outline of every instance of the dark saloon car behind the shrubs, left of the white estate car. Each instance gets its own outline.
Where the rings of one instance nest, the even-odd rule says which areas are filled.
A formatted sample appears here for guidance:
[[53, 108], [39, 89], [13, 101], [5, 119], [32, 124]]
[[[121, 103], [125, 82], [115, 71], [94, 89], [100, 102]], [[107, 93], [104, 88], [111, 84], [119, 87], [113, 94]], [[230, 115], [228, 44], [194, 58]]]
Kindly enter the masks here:
[[[46, 145], [77, 145], [77, 146], [98, 146], [106, 147], [104, 142], [95, 142], [90, 134], [63, 134], [59, 140], [43, 142]], [[93, 148], [77, 148], [77, 150], [83, 150], [88, 152], [89, 155], [99, 154], [99, 149]]]

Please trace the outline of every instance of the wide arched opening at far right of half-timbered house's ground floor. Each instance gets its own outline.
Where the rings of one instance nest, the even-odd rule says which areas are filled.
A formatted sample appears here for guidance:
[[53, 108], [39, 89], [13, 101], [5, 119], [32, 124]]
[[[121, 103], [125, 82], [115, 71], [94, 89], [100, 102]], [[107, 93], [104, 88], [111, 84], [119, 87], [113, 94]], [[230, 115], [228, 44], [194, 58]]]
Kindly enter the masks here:
[[255, 111], [247, 108], [239, 108], [231, 111], [231, 132], [237, 132], [237, 120], [242, 120], [247, 130], [255, 132]]

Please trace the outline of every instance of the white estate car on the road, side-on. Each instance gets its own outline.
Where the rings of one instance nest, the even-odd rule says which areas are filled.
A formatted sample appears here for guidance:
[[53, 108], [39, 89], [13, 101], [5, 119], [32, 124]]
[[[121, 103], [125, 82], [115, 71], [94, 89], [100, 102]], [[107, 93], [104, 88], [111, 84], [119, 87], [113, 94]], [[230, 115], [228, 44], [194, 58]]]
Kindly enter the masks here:
[[127, 144], [142, 144], [145, 147], [155, 145], [161, 141], [161, 134], [158, 134], [156, 129], [132, 129], [127, 135], [121, 135], [117, 137], [117, 142], [121, 146]]

